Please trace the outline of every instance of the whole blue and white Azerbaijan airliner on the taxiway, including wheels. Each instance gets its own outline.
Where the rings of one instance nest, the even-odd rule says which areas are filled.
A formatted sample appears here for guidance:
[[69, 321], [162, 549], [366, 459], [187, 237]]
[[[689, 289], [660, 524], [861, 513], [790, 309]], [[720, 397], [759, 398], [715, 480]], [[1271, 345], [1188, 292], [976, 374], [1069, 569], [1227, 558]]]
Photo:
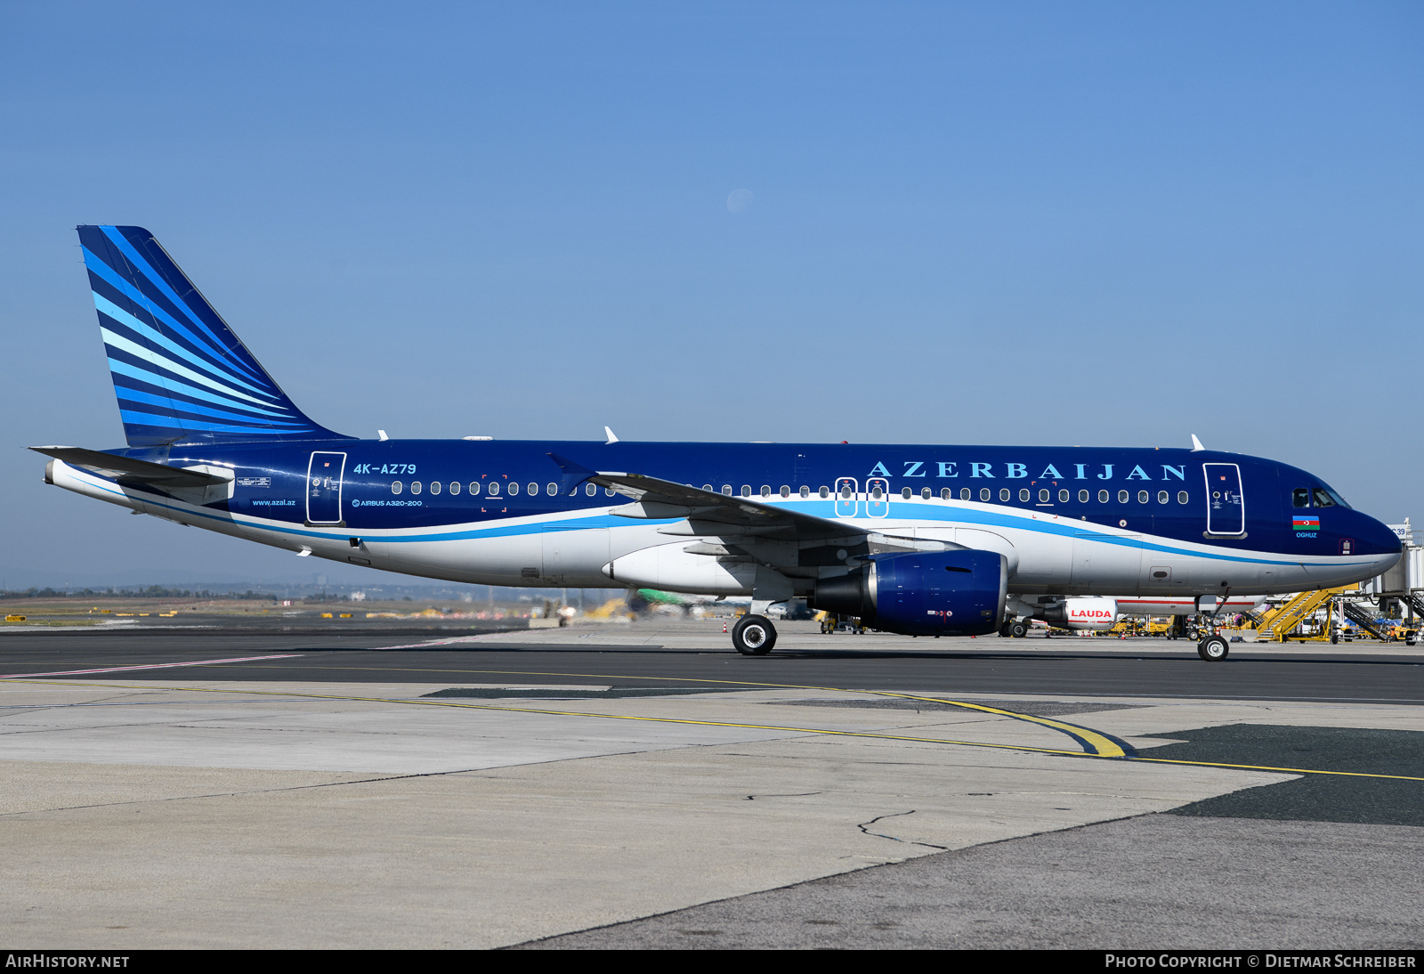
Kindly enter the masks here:
[[[80, 226], [128, 446], [48, 484], [298, 555], [481, 585], [750, 597], [911, 637], [1106, 628], [1380, 575], [1400, 538], [1320, 477], [1192, 449], [357, 439], [309, 419], [140, 226]], [[1235, 599], [1233, 599], [1235, 597]], [[1255, 601], [1255, 599], [1252, 599]], [[1124, 607], [1126, 608], [1126, 607]], [[1198, 645], [1220, 661], [1226, 639]]]

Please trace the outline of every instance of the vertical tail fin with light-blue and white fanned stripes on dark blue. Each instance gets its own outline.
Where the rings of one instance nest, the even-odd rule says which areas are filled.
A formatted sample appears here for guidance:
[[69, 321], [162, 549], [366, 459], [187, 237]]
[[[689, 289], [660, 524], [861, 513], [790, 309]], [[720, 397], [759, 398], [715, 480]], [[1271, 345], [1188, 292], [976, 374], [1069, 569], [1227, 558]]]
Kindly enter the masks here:
[[318, 426], [142, 226], [80, 226], [130, 446], [350, 439]]

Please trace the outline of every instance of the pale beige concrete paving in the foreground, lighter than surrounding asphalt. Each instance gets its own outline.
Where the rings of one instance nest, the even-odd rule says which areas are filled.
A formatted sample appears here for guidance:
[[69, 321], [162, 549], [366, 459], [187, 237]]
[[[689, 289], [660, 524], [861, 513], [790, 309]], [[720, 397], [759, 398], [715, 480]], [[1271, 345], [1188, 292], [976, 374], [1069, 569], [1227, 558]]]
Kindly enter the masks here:
[[[853, 698], [816, 691], [463, 701], [587, 716], [298, 696], [440, 686], [0, 686], [0, 930], [26, 947], [496, 947], [1290, 777], [813, 733], [1078, 749], [981, 712], [795, 705]], [[1141, 748], [1394, 711], [1062, 719]]]

